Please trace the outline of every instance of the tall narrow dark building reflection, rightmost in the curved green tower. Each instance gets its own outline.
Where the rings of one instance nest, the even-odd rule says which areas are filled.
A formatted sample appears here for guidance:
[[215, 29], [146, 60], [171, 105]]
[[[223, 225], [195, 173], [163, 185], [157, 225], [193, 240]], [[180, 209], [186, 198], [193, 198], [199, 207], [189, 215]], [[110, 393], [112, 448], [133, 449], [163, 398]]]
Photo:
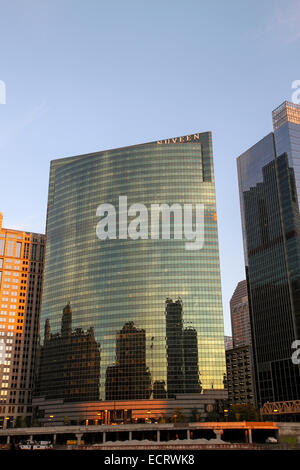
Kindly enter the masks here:
[[197, 331], [183, 328], [182, 300], [166, 300], [168, 397], [200, 393]]

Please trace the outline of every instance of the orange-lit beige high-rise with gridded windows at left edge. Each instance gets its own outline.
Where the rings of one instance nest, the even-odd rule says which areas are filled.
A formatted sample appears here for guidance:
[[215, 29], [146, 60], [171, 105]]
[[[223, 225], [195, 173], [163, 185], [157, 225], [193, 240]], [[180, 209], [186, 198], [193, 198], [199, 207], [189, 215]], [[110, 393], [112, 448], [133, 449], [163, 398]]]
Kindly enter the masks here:
[[45, 236], [2, 227], [0, 212], [0, 428], [32, 415]]

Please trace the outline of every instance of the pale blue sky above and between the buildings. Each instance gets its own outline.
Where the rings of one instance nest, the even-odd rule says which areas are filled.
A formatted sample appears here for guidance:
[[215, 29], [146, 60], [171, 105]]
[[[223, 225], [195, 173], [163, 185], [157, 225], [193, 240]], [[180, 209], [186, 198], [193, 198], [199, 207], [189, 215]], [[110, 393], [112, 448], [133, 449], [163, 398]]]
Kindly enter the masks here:
[[236, 157], [300, 79], [297, 0], [0, 0], [0, 211], [44, 232], [54, 158], [211, 130], [225, 333], [244, 278]]

